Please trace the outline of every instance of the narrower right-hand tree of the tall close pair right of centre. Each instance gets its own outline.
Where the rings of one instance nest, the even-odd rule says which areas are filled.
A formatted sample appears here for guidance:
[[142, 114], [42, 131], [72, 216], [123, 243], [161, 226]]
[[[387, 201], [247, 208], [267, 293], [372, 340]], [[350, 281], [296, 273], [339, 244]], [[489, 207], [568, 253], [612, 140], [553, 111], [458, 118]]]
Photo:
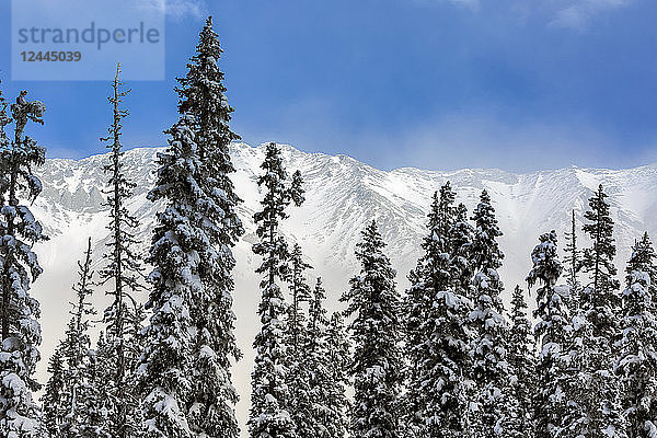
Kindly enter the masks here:
[[508, 403], [508, 391], [505, 391], [508, 381], [505, 345], [508, 327], [500, 298], [504, 285], [497, 274], [504, 258], [497, 242], [502, 231], [486, 191], [482, 192], [472, 219], [475, 223], [472, 255], [477, 269], [473, 279], [474, 310], [469, 318], [474, 331], [471, 355], [472, 377], [476, 385], [476, 412], [472, 427], [473, 435], [483, 438], [506, 435], [504, 423]]

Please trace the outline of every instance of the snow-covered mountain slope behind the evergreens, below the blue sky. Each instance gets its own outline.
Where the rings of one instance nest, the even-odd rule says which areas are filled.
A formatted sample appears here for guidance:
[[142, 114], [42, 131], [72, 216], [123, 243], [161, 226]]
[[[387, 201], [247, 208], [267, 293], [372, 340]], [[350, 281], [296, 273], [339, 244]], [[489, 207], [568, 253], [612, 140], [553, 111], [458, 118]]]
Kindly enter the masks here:
[[[124, 161], [126, 174], [138, 184], [129, 207], [141, 220], [140, 238], [145, 251], [158, 208], [146, 199], [153, 183], [157, 151], [134, 149], [125, 154]], [[253, 358], [250, 346], [257, 330], [258, 279], [253, 274], [257, 260], [251, 253], [251, 244], [256, 237], [251, 218], [258, 208], [255, 178], [263, 152], [263, 148], [244, 143], [233, 146], [238, 168], [234, 182], [238, 194], [244, 199], [240, 214], [246, 229], [235, 249], [238, 339], [245, 357], [238, 364], [234, 373], [235, 384], [242, 394], [239, 415], [243, 422], [247, 413]], [[502, 275], [508, 290], [516, 283], [525, 284], [523, 278], [530, 267], [529, 254], [538, 235], [555, 229], [563, 244], [570, 209], [575, 208], [580, 216], [587, 207], [588, 197], [600, 183], [610, 195], [616, 222], [616, 263], [620, 267], [624, 266], [635, 238], [644, 231], [657, 234], [657, 166], [654, 165], [618, 171], [568, 168], [528, 174], [499, 170], [429, 172], [397, 169], [383, 172], [349, 157], [309, 154], [287, 146], [284, 147], [284, 157], [290, 173], [297, 169], [301, 171], [307, 191], [306, 204], [290, 209], [291, 217], [284, 224], [284, 231], [290, 240], [301, 244], [308, 262], [315, 267], [312, 275], [319, 274], [324, 278], [333, 308], [337, 308], [339, 295], [356, 273], [355, 244], [365, 223], [372, 218], [379, 221], [389, 244], [388, 253], [397, 269], [400, 287], [407, 285], [405, 276], [419, 255], [418, 245], [425, 233], [431, 194], [448, 180], [458, 192], [458, 200], [463, 201], [469, 210], [476, 205], [483, 188], [489, 192], [505, 233], [502, 247], [506, 260]], [[34, 287], [34, 295], [43, 304], [45, 342], [42, 380], [45, 379], [46, 359], [68, 319], [76, 260], [81, 257], [88, 235], [94, 241], [96, 267], [102, 263], [100, 258], [107, 234], [107, 218], [102, 206], [105, 181], [102, 165], [105, 160], [105, 155], [79, 161], [48, 160], [38, 171], [44, 193], [33, 208], [50, 237], [50, 241], [36, 249], [45, 268]], [[102, 291], [96, 295], [96, 304], [99, 309], [106, 304]]]

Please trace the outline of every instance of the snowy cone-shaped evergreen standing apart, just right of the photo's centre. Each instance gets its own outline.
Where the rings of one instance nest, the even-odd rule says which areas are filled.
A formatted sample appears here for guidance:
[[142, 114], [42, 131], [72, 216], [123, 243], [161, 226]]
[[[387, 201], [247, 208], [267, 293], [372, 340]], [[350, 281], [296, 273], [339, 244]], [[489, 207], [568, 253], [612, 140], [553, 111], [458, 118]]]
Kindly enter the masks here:
[[372, 220], [357, 244], [360, 275], [350, 280], [350, 290], [342, 297], [348, 303], [345, 314], [354, 316], [349, 330], [356, 347], [350, 366], [355, 390], [350, 429], [355, 437], [401, 436], [401, 299], [384, 246]]

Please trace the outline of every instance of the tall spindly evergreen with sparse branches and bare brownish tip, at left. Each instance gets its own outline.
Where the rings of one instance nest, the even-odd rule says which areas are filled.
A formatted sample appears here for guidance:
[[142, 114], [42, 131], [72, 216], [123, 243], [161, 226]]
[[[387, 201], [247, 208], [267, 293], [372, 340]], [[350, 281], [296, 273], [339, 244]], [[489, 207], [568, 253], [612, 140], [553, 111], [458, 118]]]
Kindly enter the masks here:
[[139, 289], [141, 278], [141, 265], [136, 254], [135, 246], [138, 241], [135, 239], [135, 229], [138, 221], [126, 206], [132, 195], [135, 183], [128, 181], [124, 174], [122, 162], [123, 146], [120, 143], [122, 119], [127, 116], [127, 111], [120, 108], [123, 97], [129, 93], [122, 91], [123, 82], [119, 81], [120, 66], [116, 67], [116, 76], [112, 88], [113, 96], [107, 100], [112, 104], [113, 119], [110, 126], [108, 136], [103, 141], [108, 141], [107, 148], [111, 150], [110, 163], [104, 165], [103, 170], [110, 174], [108, 186], [106, 191], [107, 200], [104, 204], [110, 208], [110, 242], [108, 251], [103, 254], [106, 261], [105, 266], [100, 272], [103, 284], [111, 283], [112, 287], [107, 295], [113, 299], [112, 303], [105, 309], [103, 322], [106, 325], [107, 350], [106, 358], [111, 361], [111, 376], [106, 376], [107, 396], [105, 401], [107, 414], [107, 424], [105, 429], [115, 438], [128, 438], [139, 435], [141, 425], [136, 422], [136, 411], [138, 407], [138, 394], [134, 384], [130, 384], [130, 368], [134, 364], [129, 361], [128, 349], [131, 345], [131, 337], [127, 333], [127, 324], [134, 318], [130, 304], [135, 302], [132, 292]]

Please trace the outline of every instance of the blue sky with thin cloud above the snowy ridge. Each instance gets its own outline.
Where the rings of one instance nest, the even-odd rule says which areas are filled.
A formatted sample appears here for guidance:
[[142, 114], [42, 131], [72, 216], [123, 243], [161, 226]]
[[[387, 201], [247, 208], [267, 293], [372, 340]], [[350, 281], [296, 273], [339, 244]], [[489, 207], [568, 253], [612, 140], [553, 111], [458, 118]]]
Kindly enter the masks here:
[[[143, 0], [148, 1], [148, 0]], [[165, 145], [207, 14], [244, 141], [346, 153], [381, 169], [510, 171], [657, 162], [652, 0], [170, 1], [165, 81], [135, 81], [126, 147]], [[0, 78], [46, 103], [49, 157], [103, 151], [106, 82]]]

